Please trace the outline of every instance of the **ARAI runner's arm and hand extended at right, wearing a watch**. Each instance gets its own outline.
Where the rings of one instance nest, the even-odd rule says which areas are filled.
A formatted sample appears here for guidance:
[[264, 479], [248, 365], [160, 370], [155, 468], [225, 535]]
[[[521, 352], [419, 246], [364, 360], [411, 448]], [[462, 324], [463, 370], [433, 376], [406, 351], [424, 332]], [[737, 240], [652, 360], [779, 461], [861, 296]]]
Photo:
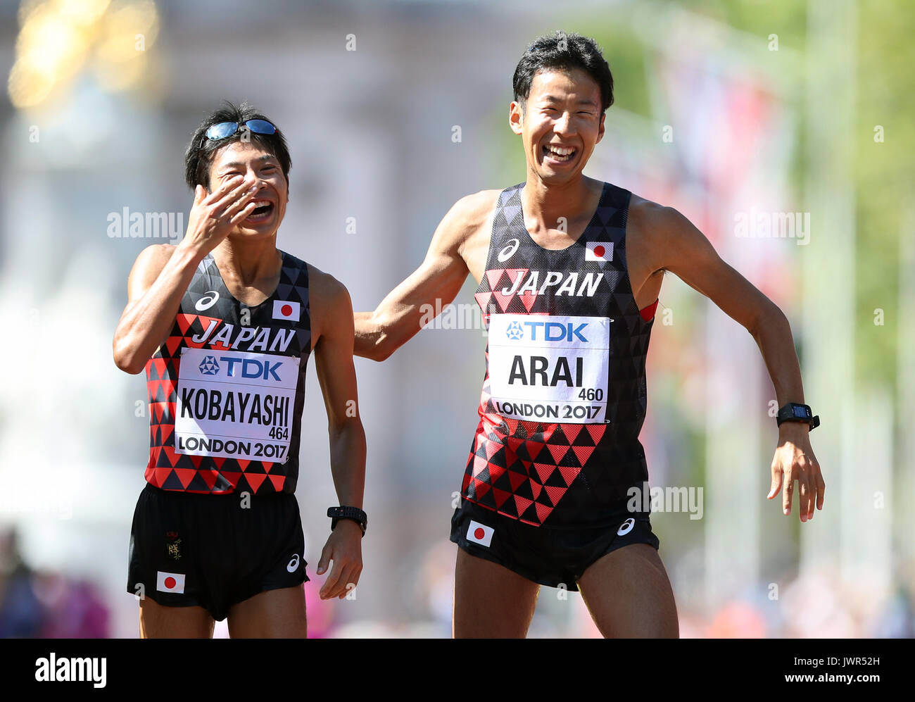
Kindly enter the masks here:
[[[660, 267], [672, 271], [687, 285], [711, 299], [731, 319], [743, 325], [756, 340], [766, 363], [779, 406], [802, 403], [801, 365], [794, 351], [791, 325], [784, 313], [743, 275], [727, 265], [712, 244], [680, 212], [650, 203], [647, 208], [662, 237]], [[791, 513], [794, 482], [800, 487], [799, 516], [813, 519], [813, 505], [823, 509], [826, 485], [820, 464], [813, 455], [810, 428], [800, 422], [783, 422], [772, 459], [768, 499], [782, 492], [782, 511]]]

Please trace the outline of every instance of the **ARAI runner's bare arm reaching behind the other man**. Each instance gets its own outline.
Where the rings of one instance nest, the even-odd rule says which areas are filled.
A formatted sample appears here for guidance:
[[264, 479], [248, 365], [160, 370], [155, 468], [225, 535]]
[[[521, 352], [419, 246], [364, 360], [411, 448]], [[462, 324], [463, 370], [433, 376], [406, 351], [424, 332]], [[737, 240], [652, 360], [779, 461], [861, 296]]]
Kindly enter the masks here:
[[444, 307], [454, 300], [467, 278], [472, 243], [495, 204], [493, 192], [498, 195], [483, 190], [458, 200], [438, 224], [422, 265], [373, 312], [355, 314], [357, 356], [383, 361], [421, 329], [425, 305], [436, 308], [441, 300]]

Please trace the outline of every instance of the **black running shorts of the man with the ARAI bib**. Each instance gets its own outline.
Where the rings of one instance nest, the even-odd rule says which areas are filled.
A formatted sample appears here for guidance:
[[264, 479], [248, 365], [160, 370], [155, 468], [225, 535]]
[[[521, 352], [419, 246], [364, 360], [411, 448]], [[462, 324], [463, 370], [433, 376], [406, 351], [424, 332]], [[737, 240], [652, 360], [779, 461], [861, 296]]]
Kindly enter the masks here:
[[661, 545], [649, 515], [630, 513], [625, 503], [613, 524], [581, 528], [533, 526], [464, 499], [451, 517], [451, 541], [523, 578], [571, 591], [601, 556], [630, 544]]

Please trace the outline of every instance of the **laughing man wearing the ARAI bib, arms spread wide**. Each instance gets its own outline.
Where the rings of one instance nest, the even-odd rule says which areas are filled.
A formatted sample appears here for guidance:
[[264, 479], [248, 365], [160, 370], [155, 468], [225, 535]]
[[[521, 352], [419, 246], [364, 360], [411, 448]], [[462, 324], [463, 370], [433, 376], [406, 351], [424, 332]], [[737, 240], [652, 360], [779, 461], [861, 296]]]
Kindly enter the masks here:
[[[823, 508], [788, 320], [669, 207], [587, 178], [613, 79], [595, 42], [538, 38], [514, 73], [511, 130], [524, 183], [469, 195], [438, 225], [422, 265], [371, 313], [356, 353], [387, 358], [468, 273], [487, 320], [479, 425], [452, 518], [454, 634], [524, 636], [541, 585], [580, 589], [605, 636], [679, 634], [647, 513], [639, 433], [645, 356], [665, 271], [711, 298], [758, 342], [779, 405], [772, 498], [801, 521]], [[808, 424], [809, 423], [809, 424]]]

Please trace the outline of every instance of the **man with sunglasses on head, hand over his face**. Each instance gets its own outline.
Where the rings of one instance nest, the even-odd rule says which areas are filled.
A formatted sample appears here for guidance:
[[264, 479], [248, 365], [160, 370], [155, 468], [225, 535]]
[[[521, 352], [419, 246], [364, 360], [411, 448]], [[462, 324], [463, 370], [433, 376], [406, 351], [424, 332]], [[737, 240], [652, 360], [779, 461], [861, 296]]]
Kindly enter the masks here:
[[145, 369], [150, 453], [136, 504], [127, 590], [140, 634], [305, 637], [305, 543], [296, 502], [308, 356], [328, 413], [339, 505], [318, 575], [322, 599], [359, 581], [365, 434], [352, 363], [350, 296], [276, 248], [289, 199], [282, 133], [226, 103], [185, 154], [194, 189], [178, 245], [149, 246], [127, 282], [113, 340], [126, 373]]

